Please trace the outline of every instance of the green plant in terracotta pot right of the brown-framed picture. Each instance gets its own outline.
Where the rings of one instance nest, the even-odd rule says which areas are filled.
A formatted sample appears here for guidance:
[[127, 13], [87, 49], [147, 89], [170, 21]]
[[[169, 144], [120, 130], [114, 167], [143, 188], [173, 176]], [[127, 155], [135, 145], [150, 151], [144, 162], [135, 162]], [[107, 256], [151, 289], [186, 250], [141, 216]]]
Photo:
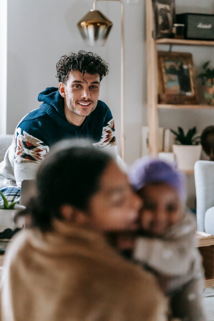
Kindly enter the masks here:
[[203, 72], [198, 75], [204, 86], [204, 97], [210, 105], [214, 105], [214, 68], [209, 68], [210, 61], [206, 61], [202, 68]]

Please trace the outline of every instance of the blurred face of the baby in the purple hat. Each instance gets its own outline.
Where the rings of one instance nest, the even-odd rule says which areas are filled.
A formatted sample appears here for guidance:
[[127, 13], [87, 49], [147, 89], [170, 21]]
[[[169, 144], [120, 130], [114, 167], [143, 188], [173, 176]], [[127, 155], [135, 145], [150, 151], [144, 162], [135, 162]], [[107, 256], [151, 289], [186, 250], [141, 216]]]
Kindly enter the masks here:
[[163, 235], [170, 226], [182, 219], [184, 214], [178, 193], [170, 185], [148, 184], [140, 190], [139, 195], [143, 199], [143, 230], [154, 235]]

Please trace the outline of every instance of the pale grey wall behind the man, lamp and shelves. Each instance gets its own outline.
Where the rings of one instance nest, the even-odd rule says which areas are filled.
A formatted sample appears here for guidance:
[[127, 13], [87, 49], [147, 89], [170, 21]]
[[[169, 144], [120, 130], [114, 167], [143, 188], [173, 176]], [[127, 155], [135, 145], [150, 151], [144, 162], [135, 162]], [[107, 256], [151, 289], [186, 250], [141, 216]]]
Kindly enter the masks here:
[[[130, 164], [141, 155], [141, 125], [147, 124], [145, 2], [124, 2], [125, 160]], [[90, 48], [83, 45], [76, 23], [92, 8], [92, 3], [92, 0], [8, 0], [7, 133], [13, 133], [21, 117], [39, 107], [40, 91], [58, 85], [55, 74], [60, 56], [84, 49], [96, 52], [109, 62], [110, 72], [101, 82], [100, 99], [107, 103], [115, 117], [119, 143], [120, 4], [97, 3], [97, 9], [107, 15], [114, 26], [105, 47]], [[176, 0], [176, 11], [210, 13], [214, 12], [214, 3], [213, 0]], [[173, 51], [192, 52], [196, 73], [202, 62], [214, 56], [214, 49], [208, 47], [173, 47]], [[2, 105], [1, 109], [4, 109]], [[214, 110], [160, 111], [160, 126], [182, 125], [187, 129], [196, 125], [201, 131], [211, 123], [214, 123]]]

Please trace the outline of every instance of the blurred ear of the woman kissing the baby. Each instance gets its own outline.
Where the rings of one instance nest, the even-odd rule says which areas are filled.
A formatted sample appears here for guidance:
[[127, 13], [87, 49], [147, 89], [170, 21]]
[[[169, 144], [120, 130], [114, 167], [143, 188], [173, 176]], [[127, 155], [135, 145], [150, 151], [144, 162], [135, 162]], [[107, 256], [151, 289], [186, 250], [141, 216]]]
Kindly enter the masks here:
[[60, 207], [60, 213], [64, 221], [70, 221], [79, 225], [85, 225], [89, 222], [88, 216], [81, 210], [76, 209], [70, 204], [64, 204]]

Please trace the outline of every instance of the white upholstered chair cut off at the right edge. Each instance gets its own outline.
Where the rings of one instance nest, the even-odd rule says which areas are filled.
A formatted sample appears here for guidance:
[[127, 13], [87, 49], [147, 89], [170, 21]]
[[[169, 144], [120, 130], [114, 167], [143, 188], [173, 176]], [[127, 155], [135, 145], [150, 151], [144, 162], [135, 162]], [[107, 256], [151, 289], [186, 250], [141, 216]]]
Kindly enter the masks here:
[[214, 161], [198, 160], [194, 175], [197, 230], [214, 234]]

